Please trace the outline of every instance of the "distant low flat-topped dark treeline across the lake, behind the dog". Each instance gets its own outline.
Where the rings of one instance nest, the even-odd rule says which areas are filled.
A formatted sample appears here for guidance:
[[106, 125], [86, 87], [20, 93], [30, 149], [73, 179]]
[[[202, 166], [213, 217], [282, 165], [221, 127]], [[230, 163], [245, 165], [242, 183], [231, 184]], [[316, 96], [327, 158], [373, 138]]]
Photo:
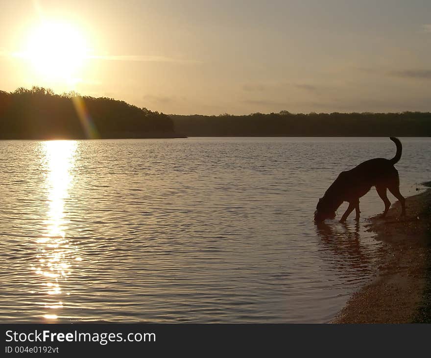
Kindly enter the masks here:
[[170, 115], [187, 136], [431, 136], [430, 112]]

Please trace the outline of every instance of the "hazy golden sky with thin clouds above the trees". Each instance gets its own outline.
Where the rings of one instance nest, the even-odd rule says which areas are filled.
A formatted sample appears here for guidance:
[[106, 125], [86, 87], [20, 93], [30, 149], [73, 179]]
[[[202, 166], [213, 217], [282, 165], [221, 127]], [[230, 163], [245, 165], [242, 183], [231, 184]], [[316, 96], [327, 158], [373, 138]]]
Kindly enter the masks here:
[[431, 111], [429, 0], [0, 8], [3, 91], [37, 85], [168, 114]]

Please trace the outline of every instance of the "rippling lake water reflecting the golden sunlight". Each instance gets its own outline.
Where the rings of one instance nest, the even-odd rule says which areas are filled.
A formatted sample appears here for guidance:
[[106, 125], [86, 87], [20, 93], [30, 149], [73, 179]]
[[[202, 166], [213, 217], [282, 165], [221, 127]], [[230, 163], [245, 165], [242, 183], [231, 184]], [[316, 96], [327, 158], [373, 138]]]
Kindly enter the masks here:
[[[407, 197], [431, 139], [400, 139]], [[389, 138], [0, 141], [1, 322], [329, 322], [382, 262], [365, 225], [384, 205], [373, 188], [359, 223], [316, 227], [318, 198], [394, 154]]]

